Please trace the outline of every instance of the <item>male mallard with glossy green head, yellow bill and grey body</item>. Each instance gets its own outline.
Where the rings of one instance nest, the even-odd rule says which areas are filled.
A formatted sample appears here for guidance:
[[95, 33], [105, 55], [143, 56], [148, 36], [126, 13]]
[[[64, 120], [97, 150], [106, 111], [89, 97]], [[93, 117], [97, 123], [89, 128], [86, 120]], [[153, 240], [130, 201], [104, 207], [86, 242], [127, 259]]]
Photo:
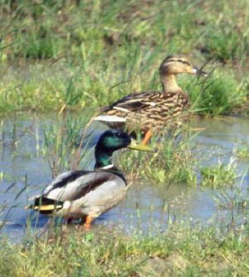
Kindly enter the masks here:
[[151, 151], [149, 147], [136, 144], [127, 133], [107, 130], [96, 144], [94, 171], [60, 174], [27, 209], [65, 218], [84, 218], [85, 228], [89, 229], [94, 218], [125, 197], [127, 181], [111, 163], [113, 152], [124, 147]]

